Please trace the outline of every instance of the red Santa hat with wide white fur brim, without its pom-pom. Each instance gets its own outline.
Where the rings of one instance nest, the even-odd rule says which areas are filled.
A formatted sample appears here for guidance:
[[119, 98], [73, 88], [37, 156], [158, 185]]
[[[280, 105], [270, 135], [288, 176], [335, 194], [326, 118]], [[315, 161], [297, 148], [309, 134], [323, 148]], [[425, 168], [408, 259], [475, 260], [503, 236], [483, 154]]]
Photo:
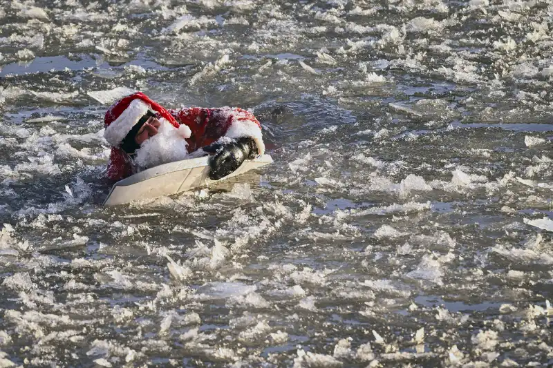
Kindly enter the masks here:
[[121, 141], [138, 123], [141, 117], [153, 111], [160, 117], [166, 119], [175, 128], [179, 127], [176, 119], [165, 108], [152, 101], [142, 92], [133, 93], [123, 97], [107, 110], [104, 117], [104, 138], [114, 147], [118, 147]]

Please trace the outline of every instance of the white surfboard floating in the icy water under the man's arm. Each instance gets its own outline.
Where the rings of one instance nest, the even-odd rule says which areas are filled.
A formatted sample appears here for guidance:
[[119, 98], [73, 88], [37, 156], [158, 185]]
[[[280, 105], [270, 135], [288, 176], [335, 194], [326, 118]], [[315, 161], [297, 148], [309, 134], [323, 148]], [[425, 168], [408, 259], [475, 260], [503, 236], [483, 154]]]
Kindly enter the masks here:
[[209, 156], [169, 162], [169, 164], [149, 168], [116, 182], [111, 188], [104, 206], [191, 191], [271, 163], [270, 155], [261, 155], [245, 160], [239, 168], [220, 180], [210, 180]]

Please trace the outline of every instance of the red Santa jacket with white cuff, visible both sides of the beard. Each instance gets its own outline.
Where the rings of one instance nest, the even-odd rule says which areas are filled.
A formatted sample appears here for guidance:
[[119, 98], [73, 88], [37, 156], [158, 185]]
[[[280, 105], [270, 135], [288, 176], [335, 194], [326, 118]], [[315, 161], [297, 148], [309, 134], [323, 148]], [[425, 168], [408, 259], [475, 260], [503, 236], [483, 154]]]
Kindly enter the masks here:
[[[252, 137], [258, 154], [265, 153], [261, 137], [261, 124], [252, 113], [241, 108], [182, 108], [169, 110], [179, 124], [187, 125], [192, 134], [188, 152], [196, 151], [225, 136], [229, 138]], [[135, 173], [131, 157], [121, 148], [112, 147], [106, 176], [111, 180], [122, 180]]]

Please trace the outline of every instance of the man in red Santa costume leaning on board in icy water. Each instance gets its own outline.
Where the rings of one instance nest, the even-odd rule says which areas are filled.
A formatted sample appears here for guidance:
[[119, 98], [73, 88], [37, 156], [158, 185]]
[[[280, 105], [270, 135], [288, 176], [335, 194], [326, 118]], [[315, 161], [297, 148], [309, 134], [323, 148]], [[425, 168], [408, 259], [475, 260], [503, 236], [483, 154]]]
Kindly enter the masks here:
[[213, 155], [209, 177], [218, 180], [265, 152], [261, 124], [241, 108], [166, 110], [137, 92], [107, 110], [104, 126], [112, 146], [106, 173], [111, 180], [207, 154]]

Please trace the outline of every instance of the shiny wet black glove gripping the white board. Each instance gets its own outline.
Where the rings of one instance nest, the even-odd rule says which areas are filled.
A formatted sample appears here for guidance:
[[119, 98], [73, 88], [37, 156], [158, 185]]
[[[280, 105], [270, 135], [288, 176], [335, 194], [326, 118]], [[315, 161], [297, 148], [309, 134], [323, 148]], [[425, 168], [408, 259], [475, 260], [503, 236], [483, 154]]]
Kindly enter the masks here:
[[209, 160], [209, 178], [219, 180], [240, 167], [245, 159], [254, 158], [257, 146], [252, 137], [241, 137], [229, 143], [210, 144], [203, 151], [215, 154]]

